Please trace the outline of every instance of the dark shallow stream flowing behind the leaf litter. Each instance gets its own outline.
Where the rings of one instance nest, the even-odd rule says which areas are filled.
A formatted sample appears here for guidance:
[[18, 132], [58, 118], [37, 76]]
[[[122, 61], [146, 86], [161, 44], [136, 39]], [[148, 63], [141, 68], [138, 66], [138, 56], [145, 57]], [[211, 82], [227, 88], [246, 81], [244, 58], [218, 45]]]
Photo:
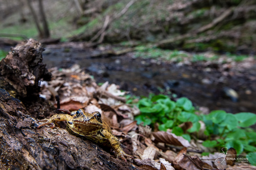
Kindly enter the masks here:
[[[50, 47], [50, 46], [49, 46]], [[109, 81], [137, 96], [170, 91], [177, 97], [188, 97], [196, 106], [227, 112], [255, 112], [256, 67], [248, 69], [220, 68], [214, 63], [182, 65], [152, 59], [121, 56], [91, 57], [100, 49], [47, 48], [43, 61], [48, 68], [67, 68], [77, 63], [93, 75], [97, 83]], [[225, 95], [225, 87], [234, 89], [239, 99]], [[168, 92], [170, 94], [170, 92]]]

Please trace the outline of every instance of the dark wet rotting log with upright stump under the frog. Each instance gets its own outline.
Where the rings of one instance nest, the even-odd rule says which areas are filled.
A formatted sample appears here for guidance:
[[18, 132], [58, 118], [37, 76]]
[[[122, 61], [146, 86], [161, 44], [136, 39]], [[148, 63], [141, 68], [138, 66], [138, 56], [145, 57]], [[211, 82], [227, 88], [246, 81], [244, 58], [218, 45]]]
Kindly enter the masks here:
[[0, 169], [137, 169], [66, 129], [37, 129], [36, 119], [55, 110], [38, 95], [38, 81], [50, 79], [42, 51], [41, 44], [30, 39], [1, 62]]

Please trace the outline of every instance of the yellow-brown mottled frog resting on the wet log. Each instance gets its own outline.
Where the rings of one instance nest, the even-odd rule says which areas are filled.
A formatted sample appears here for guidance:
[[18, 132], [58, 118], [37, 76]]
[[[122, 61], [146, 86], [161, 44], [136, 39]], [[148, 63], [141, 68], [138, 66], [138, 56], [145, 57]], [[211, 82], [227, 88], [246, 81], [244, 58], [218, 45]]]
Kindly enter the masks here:
[[44, 125], [50, 125], [50, 128], [54, 128], [56, 122], [60, 121], [66, 121], [68, 130], [75, 135], [84, 136], [100, 145], [108, 145], [110, 143], [117, 158], [121, 158], [125, 162], [127, 162], [125, 157], [133, 159], [133, 156], [128, 155], [123, 151], [121, 143], [112, 134], [110, 126], [101, 119], [100, 112], [95, 111], [93, 113], [88, 113], [83, 109], [78, 109], [77, 111], [72, 111], [70, 114], [55, 114], [51, 116], [50, 119], [38, 120], [37, 122], [44, 123], [40, 124], [37, 128]]

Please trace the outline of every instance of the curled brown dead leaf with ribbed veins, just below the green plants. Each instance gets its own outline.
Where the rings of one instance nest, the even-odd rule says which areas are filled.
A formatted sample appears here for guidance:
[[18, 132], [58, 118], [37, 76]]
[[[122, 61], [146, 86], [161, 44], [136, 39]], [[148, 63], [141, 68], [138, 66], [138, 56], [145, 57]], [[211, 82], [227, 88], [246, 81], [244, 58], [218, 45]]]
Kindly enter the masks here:
[[186, 139], [184, 139], [181, 136], [176, 136], [175, 134], [170, 132], [158, 131], [158, 132], [153, 132], [152, 134], [155, 137], [156, 142], [163, 142], [163, 143], [168, 143], [170, 145], [184, 146], [184, 147], [190, 146], [189, 142]]

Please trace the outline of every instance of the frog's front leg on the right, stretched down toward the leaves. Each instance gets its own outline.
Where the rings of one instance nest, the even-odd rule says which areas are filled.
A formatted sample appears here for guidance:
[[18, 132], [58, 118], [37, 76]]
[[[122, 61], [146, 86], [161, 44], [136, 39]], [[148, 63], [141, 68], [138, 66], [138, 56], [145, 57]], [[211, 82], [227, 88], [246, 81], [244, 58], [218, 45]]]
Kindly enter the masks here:
[[105, 137], [109, 140], [111, 146], [114, 148], [117, 158], [121, 158], [125, 162], [127, 162], [127, 160], [125, 159], [125, 156], [133, 159], [133, 156], [128, 155], [123, 151], [123, 149], [121, 147], [121, 143], [114, 135], [112, 135], [105, 129], [103, 131], [105, 131], [105, 132], [103, 132], [105, 134]]

